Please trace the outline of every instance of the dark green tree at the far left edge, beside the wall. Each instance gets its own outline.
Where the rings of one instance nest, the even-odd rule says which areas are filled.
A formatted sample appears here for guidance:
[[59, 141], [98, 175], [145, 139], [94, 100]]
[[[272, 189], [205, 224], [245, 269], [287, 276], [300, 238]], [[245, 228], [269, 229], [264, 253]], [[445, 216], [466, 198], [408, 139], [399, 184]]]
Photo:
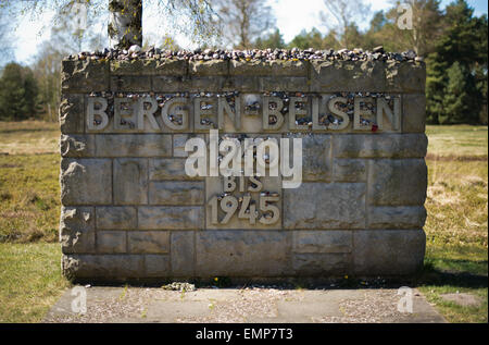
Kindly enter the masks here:
[[38, 86], [29, 67], [8, 63], [0, 78], [0, 119], [25, 120], [37, 113]]

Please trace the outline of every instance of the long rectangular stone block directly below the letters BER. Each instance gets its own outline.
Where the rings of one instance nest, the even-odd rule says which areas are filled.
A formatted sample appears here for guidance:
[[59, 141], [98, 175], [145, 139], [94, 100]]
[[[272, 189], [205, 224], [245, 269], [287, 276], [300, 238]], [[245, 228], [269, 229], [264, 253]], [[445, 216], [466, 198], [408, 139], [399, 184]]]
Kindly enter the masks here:
[[99, 134], [96, 136], [98, 157], [171, 157], [168, 134]]

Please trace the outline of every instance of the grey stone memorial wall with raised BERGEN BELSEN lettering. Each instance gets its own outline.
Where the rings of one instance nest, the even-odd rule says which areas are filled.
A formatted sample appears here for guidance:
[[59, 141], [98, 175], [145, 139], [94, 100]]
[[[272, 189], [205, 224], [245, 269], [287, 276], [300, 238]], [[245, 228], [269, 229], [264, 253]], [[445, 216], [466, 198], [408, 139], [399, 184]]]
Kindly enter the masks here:
[[[93, 281], [413, 273], [425, 254], [424, 86], [424, 63], [405, 57], [65, 59], [63, 272]], [[190, 176], [185, 145], [201, 138], [211, 152], [210, 130], [241, 145], [301, 138], [299, 186], [285, 187], [284, 174]]]

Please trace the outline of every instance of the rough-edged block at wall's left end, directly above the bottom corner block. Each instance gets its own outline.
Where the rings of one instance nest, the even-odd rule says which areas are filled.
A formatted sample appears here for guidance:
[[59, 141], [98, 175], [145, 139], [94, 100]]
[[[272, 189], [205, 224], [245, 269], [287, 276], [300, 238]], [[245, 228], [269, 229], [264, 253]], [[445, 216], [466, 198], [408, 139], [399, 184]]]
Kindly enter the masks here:
[[95, 251], [95, 210], [92, 207], [62, 207], [60, 242], [64, 254]]

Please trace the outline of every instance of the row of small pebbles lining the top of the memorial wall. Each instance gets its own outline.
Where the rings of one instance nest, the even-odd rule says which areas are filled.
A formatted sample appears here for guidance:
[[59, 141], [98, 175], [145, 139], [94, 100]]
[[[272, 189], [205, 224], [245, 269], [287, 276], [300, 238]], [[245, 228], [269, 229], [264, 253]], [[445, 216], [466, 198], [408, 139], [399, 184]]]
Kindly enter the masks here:
[[70, 60], [134, 60], [134, 59], [176, 59], [188, 61], [210, 61], [210, 60], [244, 60], [244, 61], [271, 61], [271, 60], [290, 60], [290, 61], [309, 61], [309, 60], [349, 60], [349, 61], [366, 61], [366, 60], [381, 60], [381, 61], [423, 61], [422, 57], [417, 57], [413, 50], [408, 50], [402, 53], [385, 52], [383, 46], [375, 47], [373, 51], [355, 48], [353, 50], [314, 50], [312, 48], [301, 50], [292, 49], [252, 49], [252, 50], [222, 50], [222, 49], [195, 49], [162, 51], [159, 48], [150, 47], [142, 51], [139, 46], [131, 46], [126, 49], [108, 49], [101, 51], [84, 51], [78, 54], [72, 54]]

